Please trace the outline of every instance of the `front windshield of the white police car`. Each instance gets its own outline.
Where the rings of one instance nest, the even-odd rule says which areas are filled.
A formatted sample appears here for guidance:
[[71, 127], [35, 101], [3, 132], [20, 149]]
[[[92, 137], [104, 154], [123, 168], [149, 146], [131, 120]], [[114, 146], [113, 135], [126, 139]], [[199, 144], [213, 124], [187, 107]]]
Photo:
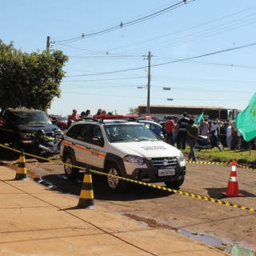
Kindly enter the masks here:
[[137, 124], [111, 124], [104, 127], [110, 142], [141, 142], [159, 140], [146, 126]]

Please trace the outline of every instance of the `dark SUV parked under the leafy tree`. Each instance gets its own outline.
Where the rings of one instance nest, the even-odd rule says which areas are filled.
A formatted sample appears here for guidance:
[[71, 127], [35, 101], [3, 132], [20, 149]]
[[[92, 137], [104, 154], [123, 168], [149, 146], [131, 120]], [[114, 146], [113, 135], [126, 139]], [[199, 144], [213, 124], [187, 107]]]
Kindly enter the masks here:
[[38, 130], [44, 130], [46, 136], [61, 132], [42, 110], [8, 109], [2, 121], [0, 143], [10, 143], [17, 149], [30, 147]]

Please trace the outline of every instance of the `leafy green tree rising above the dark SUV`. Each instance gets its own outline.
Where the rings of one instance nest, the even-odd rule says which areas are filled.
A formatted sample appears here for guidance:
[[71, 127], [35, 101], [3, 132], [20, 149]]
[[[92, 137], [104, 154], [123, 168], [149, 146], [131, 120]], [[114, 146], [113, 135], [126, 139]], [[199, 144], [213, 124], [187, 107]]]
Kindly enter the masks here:
[[0, 108], [46, 110], [61, 96], [62, 67], [68, 57], [60, 50], [23, 53], [0, 40]]

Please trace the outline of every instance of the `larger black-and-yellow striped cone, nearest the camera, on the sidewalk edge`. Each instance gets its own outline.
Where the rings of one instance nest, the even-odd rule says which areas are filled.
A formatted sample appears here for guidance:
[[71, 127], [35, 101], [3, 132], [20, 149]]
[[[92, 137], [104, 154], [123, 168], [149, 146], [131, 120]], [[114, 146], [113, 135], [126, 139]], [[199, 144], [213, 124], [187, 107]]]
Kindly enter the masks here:
[[79, 208], [94, 209], [94, 190], [90, 174], [90, 166], [86, 166], [86, 173], [82, 182], [82, 190], [78, 202]]

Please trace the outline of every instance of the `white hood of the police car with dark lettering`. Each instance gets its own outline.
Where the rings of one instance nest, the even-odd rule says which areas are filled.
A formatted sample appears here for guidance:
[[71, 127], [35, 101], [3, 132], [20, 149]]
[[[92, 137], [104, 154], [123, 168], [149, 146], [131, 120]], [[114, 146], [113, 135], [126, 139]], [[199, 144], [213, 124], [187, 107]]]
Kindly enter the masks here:
[[142, 158], [165, 158], [180, 155], [180, 150], [162, 141], [120, 142], [113, 143], [112, 146], [122, 152], [123, 156], [134, 154]]

